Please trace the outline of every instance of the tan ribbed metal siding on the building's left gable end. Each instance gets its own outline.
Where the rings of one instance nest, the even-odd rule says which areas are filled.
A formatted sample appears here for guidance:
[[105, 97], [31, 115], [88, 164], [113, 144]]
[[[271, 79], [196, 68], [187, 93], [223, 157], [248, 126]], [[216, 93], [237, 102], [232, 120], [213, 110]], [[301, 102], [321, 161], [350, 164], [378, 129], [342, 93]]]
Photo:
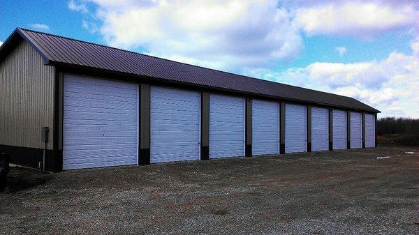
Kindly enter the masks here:
[[0, 144], [43, 148], [41, 127], [50, 127], [52, 149], [54, 71], [22, 41], [0, 64]]

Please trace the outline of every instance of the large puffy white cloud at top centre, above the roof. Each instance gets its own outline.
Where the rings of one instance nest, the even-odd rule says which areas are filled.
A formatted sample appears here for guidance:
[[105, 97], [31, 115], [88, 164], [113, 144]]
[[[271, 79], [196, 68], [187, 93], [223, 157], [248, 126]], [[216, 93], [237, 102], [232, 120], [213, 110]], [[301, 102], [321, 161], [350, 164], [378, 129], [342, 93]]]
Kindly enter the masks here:
[[[109, 45], [212, 68], [294, 59], [302, 38], [277, 1], [94, 1]], [[119, 3], [119, 1], [118, 1]]]

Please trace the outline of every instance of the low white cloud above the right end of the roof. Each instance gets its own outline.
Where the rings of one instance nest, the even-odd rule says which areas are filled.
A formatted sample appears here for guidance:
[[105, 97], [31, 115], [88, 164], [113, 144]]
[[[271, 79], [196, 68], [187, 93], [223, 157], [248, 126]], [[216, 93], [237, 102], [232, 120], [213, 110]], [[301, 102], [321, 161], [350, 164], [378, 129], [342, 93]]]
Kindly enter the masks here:
[[380, 116], [419, 118], [419, 40], [412, 54], [397, 52], [383, 61], [365, 63], [311, 63], [304, 68], [247, 70], [247, 75], [351, 96], [380, 109]]

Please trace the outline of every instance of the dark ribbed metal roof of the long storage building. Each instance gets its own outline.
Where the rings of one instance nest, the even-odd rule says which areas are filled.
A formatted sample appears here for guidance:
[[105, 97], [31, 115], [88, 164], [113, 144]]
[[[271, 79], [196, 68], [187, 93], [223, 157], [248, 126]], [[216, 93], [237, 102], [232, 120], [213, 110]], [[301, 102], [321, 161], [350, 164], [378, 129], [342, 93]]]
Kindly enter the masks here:
[[[17, 28], [9, 38], [16, 33], [34, 46], [36, 51], [45, 59], [45, 64], [48, 65], [82, 66], [83, 68], [128, 73], [142, 78], [144, 76], [155, 77], [166, 82], [205, 86], [211, 89], [236, 91], [333, 107], [345, 107], [366, 112], [379, 112], [365, 103], [346, 96], [192, 66], [186, 63], [28, 29]], [[8, 43], [8, 40], [6, 40], [6, 43]], [[0, 54], [2, 54], [1, 51]], [[0, 61], [3, 56], [0, 56]]]

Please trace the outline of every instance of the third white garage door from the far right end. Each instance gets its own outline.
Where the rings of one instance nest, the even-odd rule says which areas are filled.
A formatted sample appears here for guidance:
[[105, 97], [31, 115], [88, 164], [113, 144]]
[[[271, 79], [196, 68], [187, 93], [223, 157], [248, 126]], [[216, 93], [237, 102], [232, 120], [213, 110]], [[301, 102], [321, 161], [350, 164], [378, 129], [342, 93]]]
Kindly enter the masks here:
[[333, 109], [333, 149], [346, 149], [346, 111]]

